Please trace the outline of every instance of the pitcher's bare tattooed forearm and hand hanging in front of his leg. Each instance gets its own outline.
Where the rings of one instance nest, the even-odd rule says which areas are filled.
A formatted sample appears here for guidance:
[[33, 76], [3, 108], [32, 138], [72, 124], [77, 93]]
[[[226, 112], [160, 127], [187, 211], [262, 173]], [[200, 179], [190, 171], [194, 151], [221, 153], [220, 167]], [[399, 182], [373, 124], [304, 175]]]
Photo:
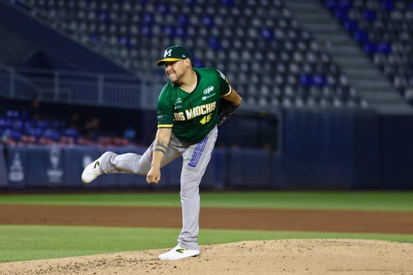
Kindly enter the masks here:
[[160, 163], [167, 153], [169, 141], [171, 140], [171, 128], [159, 128], [156, 131], [155, 142], [153, 142], [153, 155], [151, 169], [147, 173], [148, 184], [158, 184], [160, 181]]

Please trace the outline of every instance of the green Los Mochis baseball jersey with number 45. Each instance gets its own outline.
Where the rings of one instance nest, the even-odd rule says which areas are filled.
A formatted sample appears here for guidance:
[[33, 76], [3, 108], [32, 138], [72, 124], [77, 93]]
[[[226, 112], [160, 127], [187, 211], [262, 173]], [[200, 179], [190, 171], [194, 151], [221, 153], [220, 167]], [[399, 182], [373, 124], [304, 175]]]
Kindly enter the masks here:
[[231, 93], [228, 80], [218, 69], [194, 68], [198, 85], [192, 93], [167, 83], [158, 98], [158, 128], [172, 128], [181, 142], [202, 140], [218, 120], [218, 100]]

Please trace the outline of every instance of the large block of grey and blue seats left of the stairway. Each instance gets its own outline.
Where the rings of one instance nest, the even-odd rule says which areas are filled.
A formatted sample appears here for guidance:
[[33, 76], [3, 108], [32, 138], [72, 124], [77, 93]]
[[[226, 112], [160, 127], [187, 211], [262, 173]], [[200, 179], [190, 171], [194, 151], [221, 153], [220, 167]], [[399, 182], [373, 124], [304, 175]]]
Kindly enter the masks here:
[[254, 96], [248, 83], [257, 90], [351, 86], [280, 0], [25, 2], [54, 11], [51, 24], [132, 71], [162, 74], [154, 62], [165, 47], [184, 44], [195, 67], [221, 69], [246, 98]]

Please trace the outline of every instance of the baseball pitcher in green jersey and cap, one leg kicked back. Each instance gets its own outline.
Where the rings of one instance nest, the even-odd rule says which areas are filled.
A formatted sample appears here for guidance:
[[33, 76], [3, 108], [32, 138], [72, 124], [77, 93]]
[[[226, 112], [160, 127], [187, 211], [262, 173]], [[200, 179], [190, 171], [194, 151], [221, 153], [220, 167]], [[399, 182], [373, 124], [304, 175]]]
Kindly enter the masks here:
[[82, 181], [89, 183], [103, 173], [134, 173], [146, 175], [148, 184], [158, 184], [160, 168], [182, 157], [182, 231], [178, 245], [159, 255], [162, 260], [174, 260], [200, 254], [200, 181], [211, 159], [217, 126], [237, 110], [242, 98], [218, 69], [194, 68], [186, 47], [168, 47], [156, 64], [165, 66], [169, 83], [158, 98], [155, 140], [143, 155], [103, 153], [86, 166]]

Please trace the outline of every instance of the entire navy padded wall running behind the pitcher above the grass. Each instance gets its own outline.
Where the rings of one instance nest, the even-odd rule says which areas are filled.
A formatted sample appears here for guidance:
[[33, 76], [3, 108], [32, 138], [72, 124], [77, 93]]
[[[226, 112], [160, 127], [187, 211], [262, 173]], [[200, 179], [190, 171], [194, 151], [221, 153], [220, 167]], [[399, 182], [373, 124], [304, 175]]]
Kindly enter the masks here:
[[[282, 146], [277, 151], [215, 148], [202, 186], [212, 190], [413, 189], [412, 115], [284, 110], [279, 120], [277, 138]], [[235, 131], [231, 127], [226, 124], [225, 131]], [[242, 121], [236, 127], [240, 129]], [[145, 177], [121, 174], [83, 185], [83, 167], [107, 150], [143, 153], [145, 148], [2, 146], [0, 187], [178, 188], [181, 159], [162, 168], [164, 177], [156, 186], [148, 186]]]

